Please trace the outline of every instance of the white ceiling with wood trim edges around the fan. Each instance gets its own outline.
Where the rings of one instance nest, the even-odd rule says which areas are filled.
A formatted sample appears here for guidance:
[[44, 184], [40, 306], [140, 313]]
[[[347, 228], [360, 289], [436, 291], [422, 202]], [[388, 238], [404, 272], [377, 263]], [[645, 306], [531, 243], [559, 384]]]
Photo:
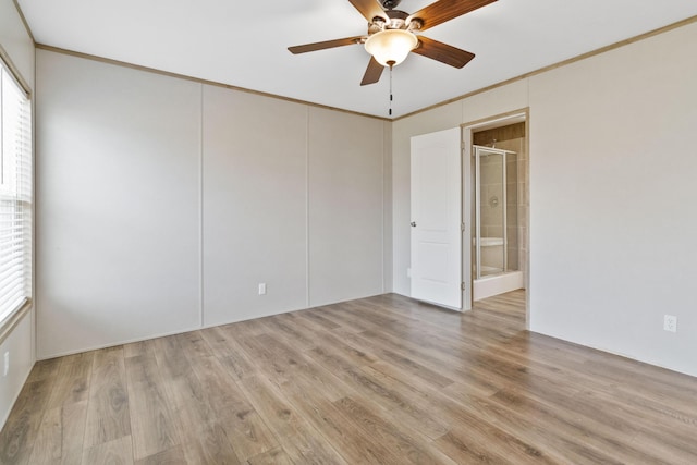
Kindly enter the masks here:
[[[403, 0], [399, 9], [429, 3]], [[347, 0], [19, 4], [38, 44], [388, 117], [388, 73], [359, 86], [369, 59], [363, 46], [286, 50], [365, 34], [365, 19]], [[457, 70], [412, 53], [394, 69], [393, 118], [695, 15], [695, 0], [499, 0], [424, 33], [476, 58]]]

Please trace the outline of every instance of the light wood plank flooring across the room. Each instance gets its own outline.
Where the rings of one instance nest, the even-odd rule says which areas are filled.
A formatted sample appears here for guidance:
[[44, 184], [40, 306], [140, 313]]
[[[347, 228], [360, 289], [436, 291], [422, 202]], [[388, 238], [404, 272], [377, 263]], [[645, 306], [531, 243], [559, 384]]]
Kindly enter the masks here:
[[39, 362], [2, 464], [697, 464], [697, 379], [383, 295]]

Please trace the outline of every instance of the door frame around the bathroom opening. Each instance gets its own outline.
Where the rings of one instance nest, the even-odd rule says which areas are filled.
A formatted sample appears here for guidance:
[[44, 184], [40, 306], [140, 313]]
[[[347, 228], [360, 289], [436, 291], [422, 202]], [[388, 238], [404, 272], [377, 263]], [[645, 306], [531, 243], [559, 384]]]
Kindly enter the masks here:
[[[463, 222], [465, 223], [465, 228], [463, 231], [463, 247], [462, 247], [463, 279], [465, 279], [465, 277], [467, 276], [469, 277], [469, 282], [465, 285], [465, 289], [467, 289], [468, 292], [465, 292], [465, 294], [463, 294], [463, 308], [465, 308], [465, 306], [467, 305], [469, 305], [469, 308], [472, 308], [472, 302], [473, 302], [472, 290], [474, 286], [474, 272], [472, 269], [473, 267], [472, 257], [473, 257], [473, 247], [474, 247], [472, 243], [472, 227], [475, 223], [474, 208], [473, 208], [473, 199], [475, 194], [474, 169], [473, 169], [474, 157], [473, 157], [473, 150], [472, 150], [473, 133], [476, 131], [481, 131], [486, 129], [505, 126], [505, 125], [513, 124], [521, 121], [525, 121], [525, 150], [527, 154], [527, 162], [528, 162], [528, 169], [529, 169], [529, 162], [530, 162], [530, 108], [529, 107], [525, 107], [518, 110], [508, 111], [505, 113], [494, 114], [488, 118], [482, 118], [479, 120], [461, 124], [462, 138], [463, 138], [462, 218], [463, 218]], [[529, 179], [528, 179], [528, 184], [529, 184]], [[527, 223], [527, 230], [528, 230], [527, 231], [528, 241], [526, 243], [527, 269], [525, 270], [525, 290], [526, 290], [525, 292], [525, 328], [529, 330], [530, 328], [530, 293], [533, 291], [530, 286], [530, 244], [529, 244], [530, 209], [529, 208], [527, 210], [526, 223]], [[464, 269], [465, 267], [469, 267], [467, 272], [465, 272], [466, 271]], [[468, 299], [465, 301], [464, 299], [465, 297], [467, 297]]]

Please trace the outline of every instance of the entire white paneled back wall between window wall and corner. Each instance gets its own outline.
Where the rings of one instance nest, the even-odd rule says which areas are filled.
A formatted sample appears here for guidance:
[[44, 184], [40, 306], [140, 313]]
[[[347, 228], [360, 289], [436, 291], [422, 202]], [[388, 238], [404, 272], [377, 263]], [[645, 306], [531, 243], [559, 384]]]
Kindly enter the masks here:
[[37, 95], [39, 358], [389, 287], [389, 123], [47, 50]]

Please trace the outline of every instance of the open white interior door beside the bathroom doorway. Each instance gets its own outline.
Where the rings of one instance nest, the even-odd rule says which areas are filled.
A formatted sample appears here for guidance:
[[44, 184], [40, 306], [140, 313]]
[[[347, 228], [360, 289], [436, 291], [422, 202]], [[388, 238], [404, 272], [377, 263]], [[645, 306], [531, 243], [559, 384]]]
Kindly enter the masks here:
[[412, 297], [462, 309], [460, 127], [412, 137]]

